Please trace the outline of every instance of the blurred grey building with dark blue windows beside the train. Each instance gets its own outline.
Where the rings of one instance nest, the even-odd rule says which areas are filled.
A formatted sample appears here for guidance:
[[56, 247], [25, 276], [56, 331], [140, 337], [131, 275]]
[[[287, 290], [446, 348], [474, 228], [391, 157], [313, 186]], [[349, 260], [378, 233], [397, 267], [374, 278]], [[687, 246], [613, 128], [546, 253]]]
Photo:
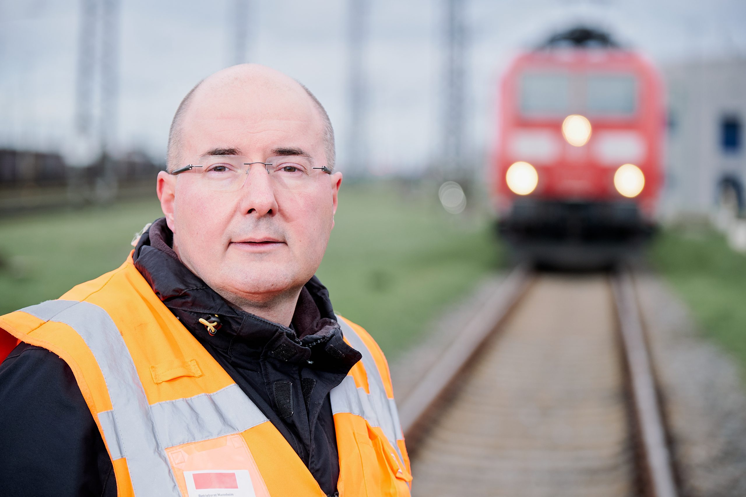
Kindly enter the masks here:
[[664, 215], [746, 211], [746, 57], [663, 68], [668, 86]]

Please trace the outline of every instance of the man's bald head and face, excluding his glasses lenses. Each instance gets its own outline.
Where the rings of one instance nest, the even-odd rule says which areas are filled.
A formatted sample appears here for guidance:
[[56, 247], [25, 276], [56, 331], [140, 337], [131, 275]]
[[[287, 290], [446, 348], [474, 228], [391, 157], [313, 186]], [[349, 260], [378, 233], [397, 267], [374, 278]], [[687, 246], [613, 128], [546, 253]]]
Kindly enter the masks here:
[[[265, 162], [287, 151], [333, 168], [325, 110], [292, 78], [242, 64], [206, 78], [182, 101], [169, 135], [168, 169], [206, 155]], [[158, 198], [181, 261], [240, 307], [296, 296], [321, 263], [342, 174], [313, 169], [310, 187], [289, 191], [257, 164], [231, 192], [205, 187], [203, 174], [158, 175]]]

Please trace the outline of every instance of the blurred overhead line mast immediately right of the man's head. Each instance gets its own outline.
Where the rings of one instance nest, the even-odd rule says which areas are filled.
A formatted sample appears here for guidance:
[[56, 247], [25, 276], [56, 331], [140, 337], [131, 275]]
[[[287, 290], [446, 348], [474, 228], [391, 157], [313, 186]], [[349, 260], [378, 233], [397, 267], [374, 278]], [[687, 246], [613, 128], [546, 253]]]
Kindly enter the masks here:
[[369, 169], [366, 126], [368, 85], [365, 74], [369, 3], [368, 0], [349, 0], [348, 8], [348, 164], [353, 174], [365, 174]]

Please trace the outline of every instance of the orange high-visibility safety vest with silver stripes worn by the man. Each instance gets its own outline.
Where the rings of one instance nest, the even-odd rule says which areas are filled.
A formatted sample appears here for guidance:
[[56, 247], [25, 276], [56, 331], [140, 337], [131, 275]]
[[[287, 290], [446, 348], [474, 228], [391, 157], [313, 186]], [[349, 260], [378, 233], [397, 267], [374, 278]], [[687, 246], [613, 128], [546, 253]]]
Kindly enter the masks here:
[[[340, 496], [409, 496], [410, 462], [386, 358], [339, 319], [363, 359], [330, 393]], [[0, 316], [16, 339], [75, 374], [118, 495], [324, 496], [298, 454], [157, 298], [132, 263]]]

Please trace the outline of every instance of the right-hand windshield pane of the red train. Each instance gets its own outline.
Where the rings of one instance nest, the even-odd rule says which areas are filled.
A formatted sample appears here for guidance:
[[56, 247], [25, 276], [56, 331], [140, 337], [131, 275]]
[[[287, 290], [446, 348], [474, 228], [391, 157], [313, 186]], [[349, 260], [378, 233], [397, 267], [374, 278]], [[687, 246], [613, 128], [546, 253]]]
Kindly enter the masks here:
[[637, 85], [632, 75], [589, 74], [586, 110], [589, 114], [629, 115], [635, 112]]

